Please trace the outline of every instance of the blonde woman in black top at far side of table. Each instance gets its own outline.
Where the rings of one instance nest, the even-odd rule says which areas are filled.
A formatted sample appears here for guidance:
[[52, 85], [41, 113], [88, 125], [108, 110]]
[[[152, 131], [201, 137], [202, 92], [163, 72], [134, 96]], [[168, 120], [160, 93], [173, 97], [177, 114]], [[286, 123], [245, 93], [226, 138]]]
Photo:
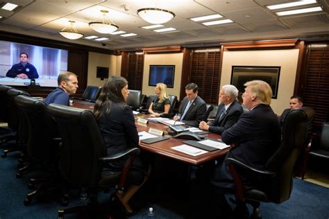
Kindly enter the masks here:
[[170, 108], [170, 100], [167, 93], [167, 85], [164, 83], [156, 84], [154, 89], [155, 98], [149, 107], [149, 113], [151, 117], [159, 117], [162, 114], [168, 114]]

